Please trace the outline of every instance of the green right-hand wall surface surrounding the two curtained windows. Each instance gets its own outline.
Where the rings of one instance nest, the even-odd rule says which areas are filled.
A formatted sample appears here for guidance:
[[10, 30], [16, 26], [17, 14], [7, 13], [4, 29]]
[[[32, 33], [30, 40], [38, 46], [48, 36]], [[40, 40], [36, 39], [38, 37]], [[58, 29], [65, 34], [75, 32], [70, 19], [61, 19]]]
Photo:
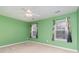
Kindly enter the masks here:
[[[70, 17], [71, 19], [71, 31], [72, 31], [72, 43], [67, 43], [64, 41], [52, 40], [52, 27], [54, 19], [61, 19], [64, 17]], [[52, 44], [56, 46], [61, 46], [64, 48], [70, 48], [77, 50], [77, 12], [70, 14], [51, 17], [45, 20], [40, 20], [34, 23], [38, 23], [38, 39], [34, 41], [39, 41], [42, 43]]]

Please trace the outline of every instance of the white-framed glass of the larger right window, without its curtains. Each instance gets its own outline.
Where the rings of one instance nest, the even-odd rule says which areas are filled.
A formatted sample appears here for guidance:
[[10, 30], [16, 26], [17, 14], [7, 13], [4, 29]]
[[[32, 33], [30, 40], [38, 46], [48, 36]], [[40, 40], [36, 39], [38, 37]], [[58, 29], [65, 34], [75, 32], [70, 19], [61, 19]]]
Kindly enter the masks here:
[[55, 39], [67, 41], [68, 37], [68, 25], [67, 19], [56, 20], [55, 22]]

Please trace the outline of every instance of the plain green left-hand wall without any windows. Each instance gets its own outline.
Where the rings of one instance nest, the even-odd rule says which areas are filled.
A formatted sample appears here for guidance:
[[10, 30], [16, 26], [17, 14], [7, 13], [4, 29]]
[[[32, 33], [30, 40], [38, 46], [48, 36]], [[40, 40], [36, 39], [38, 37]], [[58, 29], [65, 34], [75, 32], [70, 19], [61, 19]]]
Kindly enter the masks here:
[[0, 46], [26, 41], [29, 29], [26, 22], [0, 15]]

